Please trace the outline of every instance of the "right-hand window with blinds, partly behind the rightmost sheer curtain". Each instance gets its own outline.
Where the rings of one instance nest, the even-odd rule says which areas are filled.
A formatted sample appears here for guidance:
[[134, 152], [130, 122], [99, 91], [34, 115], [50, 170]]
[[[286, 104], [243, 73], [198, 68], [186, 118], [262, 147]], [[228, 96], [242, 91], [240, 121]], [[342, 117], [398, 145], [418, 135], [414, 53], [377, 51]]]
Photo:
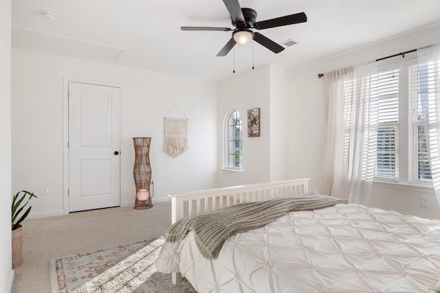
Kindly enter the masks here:
[[434, 121], [428, 119], [428, 112], [433, 110], [431, 105], [434, 96], [434, 68], [432, 64], [412, 65], [408, 70], [409, 100], [410, 100], [410, 159], [412, 159], [412, 181], [430, 182], [432, 180], [430, 162], [428, 159], [428, 144], [426, 127], [435, 127]]

